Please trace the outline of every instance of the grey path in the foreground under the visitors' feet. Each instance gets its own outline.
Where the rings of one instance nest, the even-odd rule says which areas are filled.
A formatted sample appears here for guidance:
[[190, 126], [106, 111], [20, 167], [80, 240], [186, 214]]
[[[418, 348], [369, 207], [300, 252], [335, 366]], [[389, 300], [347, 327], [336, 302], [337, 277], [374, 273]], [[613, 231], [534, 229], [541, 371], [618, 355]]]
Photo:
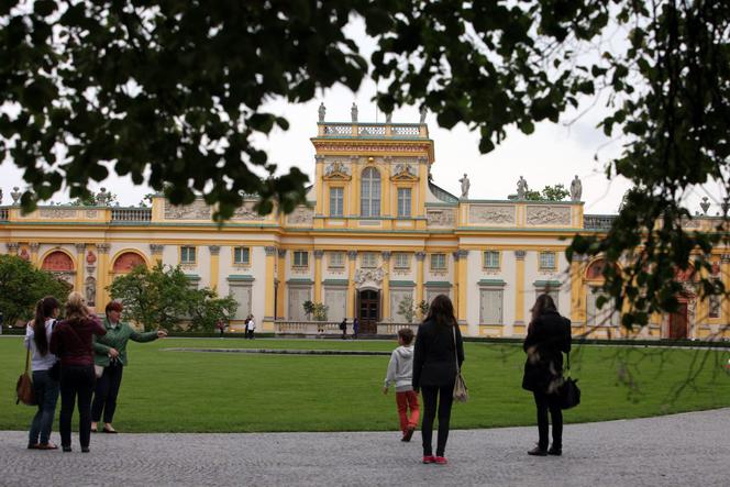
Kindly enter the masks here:
[[439, 466], [420, 463], [418, 433], [98, 433], [84, 454], [76, 435], [71, 453], [41, 452], [24, 449], [25, 432], [1, 431], [0, 485], [730, 485], [730, 408], [568, 424], [562, 457], [528, 456], [535, 440], [537, 428], [452, 431]]

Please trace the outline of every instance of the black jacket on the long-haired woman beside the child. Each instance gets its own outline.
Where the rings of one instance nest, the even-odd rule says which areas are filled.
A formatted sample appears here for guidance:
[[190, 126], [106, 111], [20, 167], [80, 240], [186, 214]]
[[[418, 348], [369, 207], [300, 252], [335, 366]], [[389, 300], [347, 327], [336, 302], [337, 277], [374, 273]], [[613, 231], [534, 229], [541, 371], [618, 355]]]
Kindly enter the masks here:
[[[454, 330], [456, 346], [454, 347]], [[456, 350], [456, 352], [454, 352]], [[413, 351], [413, 389], [422, 386], [440, 387], [456, 380], [456, 356], [458, 366], [464, 362], [464, 342], [458, 326], [424, 321], [418, 326]]]

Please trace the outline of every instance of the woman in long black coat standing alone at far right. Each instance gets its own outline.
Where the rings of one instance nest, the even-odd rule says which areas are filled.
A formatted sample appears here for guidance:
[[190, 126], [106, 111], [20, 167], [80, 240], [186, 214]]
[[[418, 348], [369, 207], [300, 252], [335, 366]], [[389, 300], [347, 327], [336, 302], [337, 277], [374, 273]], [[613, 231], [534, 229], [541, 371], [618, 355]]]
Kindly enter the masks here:
[[[522, 348], [528, 354], [522, 388], [531, 390], [538, 407], [538, 446], [530, 455], [561, 455], [563, 411], [555, 388], [563, 376], [563, 352], [571, 351], [571, 320], [557, 313], [549, 295], [540, 295], [532, 307], [532, 321]], [[553, 421], [553, 445], [548, 449], [548, 411]]]

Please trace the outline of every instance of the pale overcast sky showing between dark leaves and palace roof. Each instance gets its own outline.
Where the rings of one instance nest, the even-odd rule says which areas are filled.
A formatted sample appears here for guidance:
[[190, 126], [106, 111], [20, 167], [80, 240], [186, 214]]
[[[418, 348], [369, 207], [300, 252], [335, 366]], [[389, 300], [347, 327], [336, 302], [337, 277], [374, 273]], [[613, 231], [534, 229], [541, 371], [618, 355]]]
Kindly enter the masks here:
[[[365, 57], [369, 56], [373, 43], [364, 38], [362, 24], [352, 26], [354, 35]], [[372, 98], [376, 92], [373, 81], [366, 81], [357, 93], [344, 87], [334, 87], [319, 93], [309, 103], [290, 104], [274, 100], [264, 107], [289, 120], [287, 132], [275, 130], [268, 137], [257, 137], [256, 143], [267, 150], [269, 161], [279, 165], [280, 170], [291, 166], [310, 176], [314, 175], [314, 148], [310, 137], [317, 134], [317, 119], [320, 101], [327, 106], [327, 121], [349, 121], [350, 107], [354, 102], [360, 109], [358, 120], [384, 122], [385, 115], [376, 113]], [[576, 113], [582, 113], [577, 118]], [[546, 185], [563, 184], [569, 188], [575, 175], [583, 181], [585, 212], [594, 214], [616, 213], [623, 192], [630, 184], [623, 178], [609, 180], [605, 175], [605, 165], [620, 154], [621, 142], [609, 141], [596, 124], [605, 115], [602, 104], [586, 99], [575, 112], [567, 113], [563, 120], [535, 125], [533, 134], [527, 136], [517, 130], [508, 131], [507, 140], [495, 151], [482, 155], [478, 151], [478, 132], [469, 132], [463, 124], [452, 130], [438, 126], [435, 115], [429, 113], [427, 123], [430, 136], [435, 145], [435, 163], [432, 166], [433, 180], [445, 190], [458, 196], [458, 179], [466, 173], [472, 182], [471, 199], [506, 199], [517, 190], [517, 180], [523, 176], [530, 189], [541, 190]], [[418, 122], [418, 107], [396, 110], [394, 122]], [[596, 157], [597, 156], [597, 157]], [[4, 192], [2, 203], [11, 202], [10, 191], [13, 186], [23, 188], [21, 171], [5, 161], [0, 165], [0, 189]], [[106, 187], [117, 193], [122, 206], [137, 204], [145, 193], [152, 190], [146, 186], [134, 186], [130, 178], [111, 176], [102, 184], [92, 182], [91, 190]], [[717, 201], [720, 190], [717, 185], [706, 185], [688, 191], [685, 204], [694, 213], [699, 210], [703, 196], [709, 196], [714, 203], [709, 213], [719, 209]], [[68, 201], [67, 191], [54, 196], [53, 201]]]

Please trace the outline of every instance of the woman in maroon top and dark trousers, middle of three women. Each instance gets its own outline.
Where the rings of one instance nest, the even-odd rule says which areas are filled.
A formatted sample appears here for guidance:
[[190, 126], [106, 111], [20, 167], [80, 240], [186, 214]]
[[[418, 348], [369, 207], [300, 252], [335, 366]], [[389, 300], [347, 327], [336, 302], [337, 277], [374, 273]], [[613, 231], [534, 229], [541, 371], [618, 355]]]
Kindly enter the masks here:
[[86, 300], [78, 292], [68, 295], [66, 319], [57, 324], [51, 337], [51, 352], [60, 358], [60, 446], [71, 451], [71, 416], [78, 398], [79, 442], [81, 452], [89, 452], [91, 436], [91, 392], [93, 374], [93, 335], [107, 330], [91, 316]]

